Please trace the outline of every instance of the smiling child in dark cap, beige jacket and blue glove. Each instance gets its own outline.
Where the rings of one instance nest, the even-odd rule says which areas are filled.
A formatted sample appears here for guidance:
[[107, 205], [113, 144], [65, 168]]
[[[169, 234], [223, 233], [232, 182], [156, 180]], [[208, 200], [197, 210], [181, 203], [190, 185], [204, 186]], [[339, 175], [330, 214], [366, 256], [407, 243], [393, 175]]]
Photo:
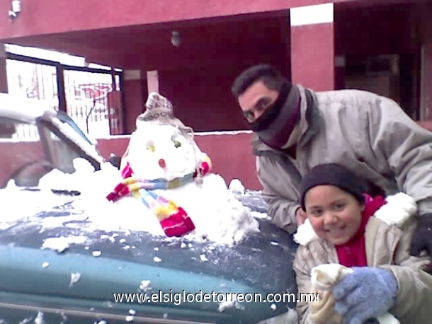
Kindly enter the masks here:
[[[301, 205], [307, 221], [295, 234], [300, 247], [294, 262], [300, 323], [326, 323], [325, 318], [341, 314], [342, 323], [361, 324], [387, 312], [401, 323], [431, 323], [432, 275], [421, 270], [428, 259], [409, 255], [416, 225], [414, 215], [409, 216], [416, 212], [414, 199], [398, 194], [386, 204], [382, 197], [372, 199], [363, 192], [361, 180], [334, 163], [313, 168], [303, 180]], [[396, 219], [398, 226], [377, 219], [378, 214]], [[300, 294], [314, 291], [311, 270], [325, 263], [339, 263], [353, 273], [331, 291], [329, 310], [337, 314], [319, 318], [319, 303], [300, 300]]]

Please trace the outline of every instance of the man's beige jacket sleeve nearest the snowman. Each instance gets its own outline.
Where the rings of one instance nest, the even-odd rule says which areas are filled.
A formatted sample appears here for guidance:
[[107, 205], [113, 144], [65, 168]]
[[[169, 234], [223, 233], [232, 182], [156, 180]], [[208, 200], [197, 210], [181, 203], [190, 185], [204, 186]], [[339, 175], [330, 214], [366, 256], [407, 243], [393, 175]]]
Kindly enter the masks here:
[[268, 203], [268, 215], [276, 226], [294, 233], [297, 228], [295, 212], [300, 204], [289, 175], [277, 162], [264, 156], [256, 158], [256, 171], [263, 185], [263, 199]]

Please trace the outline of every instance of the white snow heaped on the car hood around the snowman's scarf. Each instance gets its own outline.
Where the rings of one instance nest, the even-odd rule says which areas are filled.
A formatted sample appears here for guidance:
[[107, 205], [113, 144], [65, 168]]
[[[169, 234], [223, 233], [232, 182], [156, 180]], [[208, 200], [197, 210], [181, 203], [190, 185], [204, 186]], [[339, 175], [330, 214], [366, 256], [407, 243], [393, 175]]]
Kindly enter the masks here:
[[[39, 192], [21, 190], [13, 183], [0, 190], [2, 201], [11, 204], [10, 208], [4, 209], [11, 212], [2, 216], [0, 229], [13, 226], [17, 221], [38, 222], [42, 228], [76, 226], [74, 221], [81, 221], [81, 231], [144, 231], [166, 238], [157, 217], [140, 200], [123, 197], [113, 203], [106, 199], [106, 195], [122, 180], [117, 168], [110, 163], [103, 163], [101, 170], [95, 172], [93, 166], [83, 158], [74, 160], [74, 168], [76, 172], [72, 174], [52, 170], [40, 180]], [[183, 207], [191, 216], [195, 231], [184, 238], [232, 245], [242, 241], [249, 233], [259, 231], [258, 221], [254, 217], [256, 214], [252, 214], [227, 190], [220, 175], [210, 174], [203, 180], [202, 185], [189, 183], [176, 189], [158, 191]], [[55, 195], [52, 190], [81, 192], [81, 195]], [[67, 203], [74, 212], [64, 216], [50, 217], [45, 213], [43, 217], [31, 217]], [[63, 246], [64, 241], [59, 244]]]

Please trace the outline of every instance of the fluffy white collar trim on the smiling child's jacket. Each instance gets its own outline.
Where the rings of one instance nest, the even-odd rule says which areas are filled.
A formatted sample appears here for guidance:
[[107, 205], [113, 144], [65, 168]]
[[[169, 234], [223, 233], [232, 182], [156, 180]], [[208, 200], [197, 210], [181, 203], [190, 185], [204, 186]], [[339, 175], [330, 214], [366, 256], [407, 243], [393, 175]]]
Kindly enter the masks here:
[[[380, 223], [379, 221], [384, 222], [388, 226], [402, 228], [402, 226], [417, 213], [417, 204], [414, 198], [403, 192], [389, 196], [385, 200], [387, 204], [383, 205], [375, 212], [366, 226], [366, 231], [370, 232], [368, 237], [369, 235], [375, 237], [373, 233], [376, 233], [377, 224]], [[293, 238], [294, 241], [300, 245], [308, 245], [312, 241], [320, 239], [317, 233], [315, 233], [314, 228], [312, 228], [309, 219], [306, 219], [305, 223], [297, 228], [297, 232], [294, 234]], [[369, 241], [373, 242], [374, 240]], [[371, 248], [370, 246], [369, 250]], [[368, 252], [368, 243], [366, 243], [366, 252]]]

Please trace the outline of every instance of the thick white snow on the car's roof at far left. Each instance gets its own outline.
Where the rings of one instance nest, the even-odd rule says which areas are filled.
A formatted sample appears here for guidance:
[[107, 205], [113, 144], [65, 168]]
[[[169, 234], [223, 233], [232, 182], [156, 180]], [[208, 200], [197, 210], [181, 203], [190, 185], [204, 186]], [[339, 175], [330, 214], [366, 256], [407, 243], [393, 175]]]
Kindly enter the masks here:
[[45, 101], [0, 93], [0, 117], [34, 123], [36, 118], [43, 115], [56, 115]]

